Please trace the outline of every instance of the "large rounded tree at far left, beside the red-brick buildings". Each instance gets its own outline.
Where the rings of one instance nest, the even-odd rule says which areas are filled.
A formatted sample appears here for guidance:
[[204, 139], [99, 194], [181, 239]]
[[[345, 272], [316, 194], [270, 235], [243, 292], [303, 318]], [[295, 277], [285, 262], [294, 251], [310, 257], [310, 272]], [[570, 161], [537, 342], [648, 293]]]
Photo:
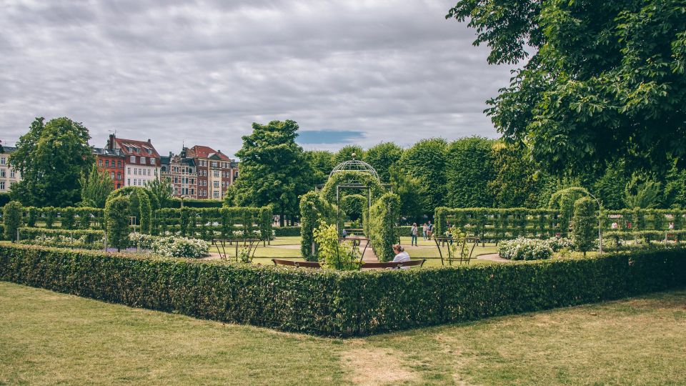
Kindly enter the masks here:
[[9, 156], [12, 167], [21, 173], [11, 195], [26, 206], [73, 206], [81, 198], [79, 177], [94, 162], [91, 137], [86, 127], [69, 118], [43, 122], [44, 118], [36, 118]]

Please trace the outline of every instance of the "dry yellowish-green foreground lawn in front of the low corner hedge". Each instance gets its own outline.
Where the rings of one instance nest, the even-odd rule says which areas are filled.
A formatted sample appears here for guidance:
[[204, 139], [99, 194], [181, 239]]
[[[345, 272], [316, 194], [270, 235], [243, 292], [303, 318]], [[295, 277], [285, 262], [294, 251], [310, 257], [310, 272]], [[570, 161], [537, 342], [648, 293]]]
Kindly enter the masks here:
[[336, 340], [0, 282], [0, 384], [686, 383], [686, 290]]

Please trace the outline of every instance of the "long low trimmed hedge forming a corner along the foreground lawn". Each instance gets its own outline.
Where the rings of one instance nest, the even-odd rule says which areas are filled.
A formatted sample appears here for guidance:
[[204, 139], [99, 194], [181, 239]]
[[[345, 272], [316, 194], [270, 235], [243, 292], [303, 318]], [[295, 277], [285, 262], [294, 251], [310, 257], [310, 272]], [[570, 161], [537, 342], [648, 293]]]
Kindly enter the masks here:
[[166, 312], [358, 336], [686, 285], [686, 250], [337, 272], [0, 244], [0, 279]]

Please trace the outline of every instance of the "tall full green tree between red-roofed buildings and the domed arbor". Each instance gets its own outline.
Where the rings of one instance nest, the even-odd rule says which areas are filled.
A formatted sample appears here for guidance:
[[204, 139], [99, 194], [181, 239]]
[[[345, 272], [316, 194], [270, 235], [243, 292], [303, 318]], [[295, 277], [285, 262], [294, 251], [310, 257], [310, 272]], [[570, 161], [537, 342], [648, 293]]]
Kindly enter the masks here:
[[247, 207], [272, 205], [283, 221], [284, 214], [297, 213], [298, 197], [309, 189], [309, 164], [295, 143], [298, 124], [272, 121], [267, 125], [254, 123], [252, 129], [236, 153], [241, 159], [236, 203]]

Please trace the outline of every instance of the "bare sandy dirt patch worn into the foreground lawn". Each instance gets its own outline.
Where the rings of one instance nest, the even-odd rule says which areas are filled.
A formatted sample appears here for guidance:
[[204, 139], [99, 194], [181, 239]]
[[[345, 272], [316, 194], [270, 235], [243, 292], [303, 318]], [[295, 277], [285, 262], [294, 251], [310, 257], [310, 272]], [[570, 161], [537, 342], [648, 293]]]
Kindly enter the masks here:
[[356, 385], [389, 385], [417, 380], [417, 374], [402, 363], [402, 353], [383, 348], [356, 348], [344, 352], [343, 365]]

